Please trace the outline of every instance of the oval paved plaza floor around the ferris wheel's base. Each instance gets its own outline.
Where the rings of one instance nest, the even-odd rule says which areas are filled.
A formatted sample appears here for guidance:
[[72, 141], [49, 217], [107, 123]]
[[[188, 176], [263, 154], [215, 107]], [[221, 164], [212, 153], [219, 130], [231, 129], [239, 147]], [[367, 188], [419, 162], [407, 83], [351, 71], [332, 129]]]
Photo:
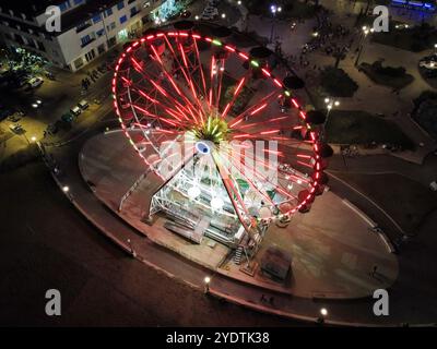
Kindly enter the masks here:
[[[257, 260], [271, 245], [280, 246], [293, 258], [288, 279], [276, 282], [259, 269], [253, 277], [243, 273], [232, 261], [232, 251], [221, 243], [211, 246], [205, 238], [196, 244], [170, 232], [164, 227], [164, 217], [153, 219], [151, 225], [144, 222], [158, 179], [153, 182], [146, 177], [119, 213], [120, 198], [145, 170], [121, 131], [88, 140], [80, 155], [80, 169], [96, 196], [138, 231], [190, 261], [244, 282], [306, 298], [351, 299], [389, 288], [397, 279], [395, 255], [371, 232], [366, 217], [332, 192], [318, 197], [309, 213], [296, 214], [286, 228], [270, 226]], [[375, 266], [377, 275], [373, 275]]]

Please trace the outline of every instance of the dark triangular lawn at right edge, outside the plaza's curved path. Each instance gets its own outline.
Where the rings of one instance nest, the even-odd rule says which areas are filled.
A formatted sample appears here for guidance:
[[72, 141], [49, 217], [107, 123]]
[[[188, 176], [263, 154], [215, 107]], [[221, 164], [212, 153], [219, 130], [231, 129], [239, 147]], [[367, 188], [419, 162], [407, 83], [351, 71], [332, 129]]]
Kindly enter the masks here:
[[397, 173], [335, 173], [378, 203], [406, 232], [416, 232], [423, 219], [437, 209], [437, 195]]

